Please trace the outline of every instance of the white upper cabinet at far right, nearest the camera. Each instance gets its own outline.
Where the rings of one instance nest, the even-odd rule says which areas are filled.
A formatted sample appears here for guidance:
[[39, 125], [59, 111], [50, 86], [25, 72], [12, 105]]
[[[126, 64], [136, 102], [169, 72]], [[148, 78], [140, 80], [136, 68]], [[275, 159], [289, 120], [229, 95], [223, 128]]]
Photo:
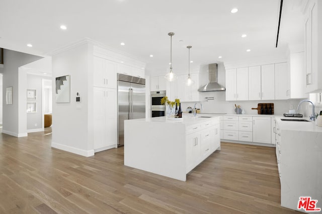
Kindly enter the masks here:
[[321, 41], [322, 18], [318, 13], [322, 13], [322, 3], [317, 0], [309, 0], [305, 11], [304, 19], [304, 51], [305, 51], [305, 85], [306, 92], [314, 92], [322, 89], [322, 74], [318, 70], [322, 69]]

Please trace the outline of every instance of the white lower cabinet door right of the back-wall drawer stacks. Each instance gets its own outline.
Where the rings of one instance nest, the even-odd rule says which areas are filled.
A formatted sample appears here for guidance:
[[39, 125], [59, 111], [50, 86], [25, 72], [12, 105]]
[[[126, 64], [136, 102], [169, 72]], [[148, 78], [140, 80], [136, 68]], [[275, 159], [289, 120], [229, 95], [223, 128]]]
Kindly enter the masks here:
[[271, 117], [253, 117], [253, 142], [271, 143]]

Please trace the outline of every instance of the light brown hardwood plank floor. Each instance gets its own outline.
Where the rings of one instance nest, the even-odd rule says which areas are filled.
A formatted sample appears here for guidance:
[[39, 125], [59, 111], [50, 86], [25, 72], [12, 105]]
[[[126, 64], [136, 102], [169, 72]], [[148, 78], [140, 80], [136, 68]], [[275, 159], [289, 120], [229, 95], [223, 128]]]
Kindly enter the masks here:
[[51, 148], [50, 131], [0, 134], [0, 213], [296, 212], [280, 206], [275, 148], [222, 143], [183, 182], [124, 166], [123, 147]]

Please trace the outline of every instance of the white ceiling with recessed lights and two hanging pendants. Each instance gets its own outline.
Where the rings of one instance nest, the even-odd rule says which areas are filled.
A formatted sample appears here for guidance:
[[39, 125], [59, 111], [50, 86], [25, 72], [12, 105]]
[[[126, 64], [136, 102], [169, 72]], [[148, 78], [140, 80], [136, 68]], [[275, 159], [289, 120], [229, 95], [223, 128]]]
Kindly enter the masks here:
[[[193, 71], [213, 62], [280, 55], [287, 43], [302, 43], [300, 3], [284, 1], [275, 48], [280, 0], [0, 0], [0, 47], [48, 56], [90, 38], [143, 60], [147, 73], [162, 75], [169, 70], [168, 33], [174, 32], [173, 68], [184, 73], [187, 45], [192, 46]], [[232, 8], [238, 12], [231, 14]]]

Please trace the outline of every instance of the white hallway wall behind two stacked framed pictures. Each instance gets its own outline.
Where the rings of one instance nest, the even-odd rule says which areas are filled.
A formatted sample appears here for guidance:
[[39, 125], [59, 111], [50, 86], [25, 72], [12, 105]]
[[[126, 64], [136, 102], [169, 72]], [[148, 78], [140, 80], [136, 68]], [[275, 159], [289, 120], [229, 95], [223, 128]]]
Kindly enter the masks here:
[[[51, 80], [51, 77], [27, 74], [27, 89], [36, 90], [36, 112], [27, 113], [27, 132], [44, 128], [42, 126], [42, 79]], [[33, 101], [27, 100], [27, 102]]]

